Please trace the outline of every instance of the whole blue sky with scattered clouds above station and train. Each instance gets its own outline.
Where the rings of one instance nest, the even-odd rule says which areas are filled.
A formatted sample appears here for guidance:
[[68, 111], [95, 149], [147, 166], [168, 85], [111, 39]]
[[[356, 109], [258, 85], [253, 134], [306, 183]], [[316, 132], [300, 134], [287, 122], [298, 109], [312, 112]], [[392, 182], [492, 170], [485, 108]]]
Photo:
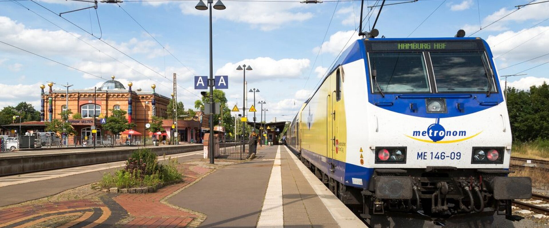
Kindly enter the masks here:
[[[257, 89], [267, 121], [289, 121], [315, 90], [346, 45], [356, 39], [360, 1], [225, 0], [212, 9], [214, 75], [228, 75], [228, 106]], [[365, 31], [382, 1], [364, 1]], [[408, 2], [408, 3], [405, 3]], [[523, 7], [517, 5], [531, 4]], [[549, 81], [549, 2], [537, 0], [387, 0], [379, 36], [453, 37], [486, 40], [507, 86], [527, 90]], [[0, 108], [29, 102], [40, 110], [40, 85], [89, 89], [114, 75], [127, 87], [170, 96], [194, 109], [200, 90], [194, 76], [209, 75], [209, 11], [198, 0], [93, 3], [65, 0], [0, 0]], [[215, 2], [214, 2], [215, 4]], [[71, 13], [72, 10], [88, 8]], [[59, 16], [60, 13], [61, 16]], [[507, 15], [507, 16], [506, 16]], [[350, 40], [350, 42], [349, 42]], [[518, 75], [524, 74], [524, 75]], [[505, 80], [502, 77], [501, 80]], [[249, 108], [254, 93], [247, 92]], [[233, 113], [236, 114], [236, 113]], [[251, 118], [250, 118], [251, 120]]]

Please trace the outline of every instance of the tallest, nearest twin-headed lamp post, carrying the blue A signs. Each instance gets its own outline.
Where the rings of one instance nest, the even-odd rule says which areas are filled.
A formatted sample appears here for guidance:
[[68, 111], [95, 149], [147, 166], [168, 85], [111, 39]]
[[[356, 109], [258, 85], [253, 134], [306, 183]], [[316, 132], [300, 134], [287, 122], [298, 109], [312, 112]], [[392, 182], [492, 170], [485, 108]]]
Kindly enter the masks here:
[[[202, 0], [194, 7], [198, 10], [210, 9], [210, 78], [208, 79], [208, 85], [210, 87], [210, 144], [209, 144], [209, 154], [210, 154], [210, 163], [214, 163], [214, 54], [212, 52], [212, 37], [211, 37], [211, 4], [214, 3], [214, 0], [208, 0], [208, 7]], [[227, 7], [223, 5], [221, 0], [217, 0], [214, 5], [214, 9], [223, 10]]]

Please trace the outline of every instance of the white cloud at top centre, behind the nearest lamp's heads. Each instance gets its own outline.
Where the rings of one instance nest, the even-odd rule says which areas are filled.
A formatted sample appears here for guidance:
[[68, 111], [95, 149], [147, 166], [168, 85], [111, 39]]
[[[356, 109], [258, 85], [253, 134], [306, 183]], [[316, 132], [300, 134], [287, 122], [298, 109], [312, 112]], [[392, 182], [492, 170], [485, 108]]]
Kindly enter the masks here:
[[[195, 2], [180, 5], [183, 14], [208, 16], [208, 10], [197, 10]], [[273, 2], [231, 2], [225, 10], [215, 10], [212, 17], [244, 22], [263, 31], [274, 30], [282, 25], [312, 18], [312, 13], [302, 13], [303, 4], [280, 4]]]

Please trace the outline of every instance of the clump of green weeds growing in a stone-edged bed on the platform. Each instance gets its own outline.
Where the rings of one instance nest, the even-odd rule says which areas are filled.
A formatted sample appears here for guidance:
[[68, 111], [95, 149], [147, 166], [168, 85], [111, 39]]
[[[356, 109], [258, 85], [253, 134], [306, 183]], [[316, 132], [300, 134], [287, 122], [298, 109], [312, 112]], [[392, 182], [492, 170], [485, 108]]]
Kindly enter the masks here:
[[99, 182], [104, 189], [133, 188], [139, 186], [159, 186], [179, 182], [183, 175], [177, 171], [177, 159], [169, 159], [167, 164], [158, 163], [158, 158], [150, 149], [138, 149], [126, 161], [126, 168], [114, 174], [105, 173]]

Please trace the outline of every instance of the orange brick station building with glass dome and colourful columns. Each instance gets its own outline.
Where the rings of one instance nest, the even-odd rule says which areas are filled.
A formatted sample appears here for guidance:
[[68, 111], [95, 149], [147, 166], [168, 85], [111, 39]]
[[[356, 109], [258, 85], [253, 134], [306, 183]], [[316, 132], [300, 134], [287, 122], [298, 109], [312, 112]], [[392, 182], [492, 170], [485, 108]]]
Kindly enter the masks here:
[[[49, 90], [44, 92], [45, 86], [41, 86], [41, 121], [61, 119], [59, 114], [67, 108], [68, 103], [68, 108], [72, 111], [69, 122], [76, 131], [76, 144], [80, 144], [86, 136], [91, 138], [93, 126], [96, 126], [97, 137], [110, 134], [102, 130], [101, 120], [107, 118], [112, 109], [125, 110], [128, 121], [136, 124], [133, 130], [145, 136], [150, 136], [148, 129], [145, 130], [145, 124], [150, 122], [153, 116], [160, 116], [165, 119], [163, 127], [167, 130], [167, 137], [172, 135], [172, 131], [175, 131], [171, 128], [173, 121], [171, 116], [167, 116], [169, 97], [156, 93], [154, 84], [151, 86], [152, 91], [132, 90], [132, 83], [128, 83], [126, 89], [114, 76], [111, 78], [97, 89], [52, 90], [53, 84], [49, 83]], [[82, 119], [72, 118], [75, 113], [80, 113]], [[204, 116], [203, 126], [207, 125], [207, 120], [208, 116]], [[199, 142], [200, 132], [204, 130], [200, 126], [199, 116], [193, 116], [191, 120], [178, 120], [177, 128], [180, 142]]]

